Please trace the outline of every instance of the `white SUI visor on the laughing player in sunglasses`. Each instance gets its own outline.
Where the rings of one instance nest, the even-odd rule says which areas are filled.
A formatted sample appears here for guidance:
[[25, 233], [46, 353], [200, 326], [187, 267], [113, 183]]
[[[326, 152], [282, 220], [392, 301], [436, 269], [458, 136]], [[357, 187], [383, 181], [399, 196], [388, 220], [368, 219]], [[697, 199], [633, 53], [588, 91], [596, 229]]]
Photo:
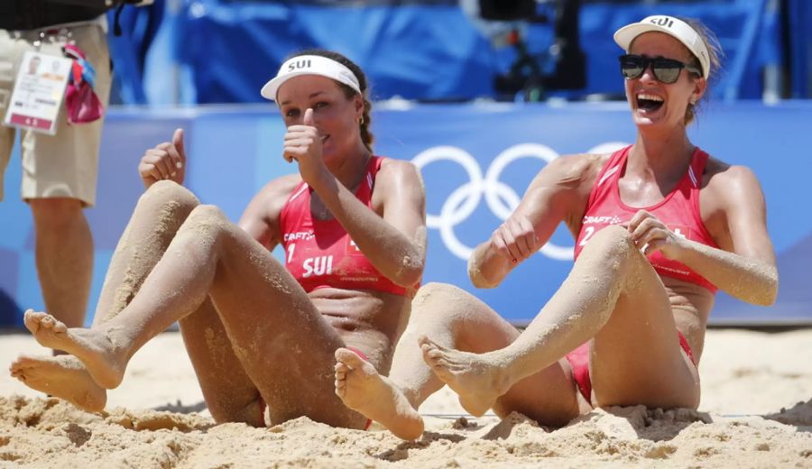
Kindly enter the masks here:
[[702, 37], [694, 28], [678, 18], [658, 14], [643, 18], [640, 23], [626, 24], [614, 32], [614, 41], [623, 48], [623, 51], [628, 52], [632, 41], [637, 36], [651, 31], [665, 32], [685, 44], [688, 51], [691, 51], [699, 60], [699, 65], [702, 66], [702, 76], [707, 79], [710, 73], [710, 58], [705, 41], [702, 41]]

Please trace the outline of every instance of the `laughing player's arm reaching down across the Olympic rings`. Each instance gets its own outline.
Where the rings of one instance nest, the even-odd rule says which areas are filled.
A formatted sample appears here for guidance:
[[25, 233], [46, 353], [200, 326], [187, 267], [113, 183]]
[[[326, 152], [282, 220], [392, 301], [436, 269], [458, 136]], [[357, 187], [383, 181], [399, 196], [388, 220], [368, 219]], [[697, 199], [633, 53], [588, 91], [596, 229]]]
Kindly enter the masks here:
[[474, 286], [499, 285], [549, 241], [561, 220], [570, 227], [579, 225], [601, 161], [600, 155], [564, 156], [540, 170], [519, 207], [471, 254], [468, 276]]

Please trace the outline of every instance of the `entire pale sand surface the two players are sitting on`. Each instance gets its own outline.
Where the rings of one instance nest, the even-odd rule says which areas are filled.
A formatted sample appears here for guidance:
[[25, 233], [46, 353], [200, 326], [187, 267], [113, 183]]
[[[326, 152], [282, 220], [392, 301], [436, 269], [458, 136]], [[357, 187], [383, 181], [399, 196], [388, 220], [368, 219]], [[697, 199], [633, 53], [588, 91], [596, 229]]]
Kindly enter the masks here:
[[595, 410], [565, 428], [519, 414], [465, 416], [444, 389], [404, 442], [297, 418], [273, 428], [215, 426], [178, 333], [135, 354], [105, 412], [48, 399], [5, 371], [44, 353], [0, 335], [0, 468], [31, 467], [812, 467], [812, 329], [711, 330], [699, 411]]

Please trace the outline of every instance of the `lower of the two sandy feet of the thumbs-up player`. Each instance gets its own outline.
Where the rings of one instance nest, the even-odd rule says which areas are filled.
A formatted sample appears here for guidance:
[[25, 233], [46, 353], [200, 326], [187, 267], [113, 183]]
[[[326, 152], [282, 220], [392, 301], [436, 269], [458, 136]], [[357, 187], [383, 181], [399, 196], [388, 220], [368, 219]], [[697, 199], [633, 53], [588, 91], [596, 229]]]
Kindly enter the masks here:
[[20, 355], [9, 371], [29, 388], [68, 400], [79, 409], [105, 409], [107, 391], [93, 381], [85, 365], [73, 355]]

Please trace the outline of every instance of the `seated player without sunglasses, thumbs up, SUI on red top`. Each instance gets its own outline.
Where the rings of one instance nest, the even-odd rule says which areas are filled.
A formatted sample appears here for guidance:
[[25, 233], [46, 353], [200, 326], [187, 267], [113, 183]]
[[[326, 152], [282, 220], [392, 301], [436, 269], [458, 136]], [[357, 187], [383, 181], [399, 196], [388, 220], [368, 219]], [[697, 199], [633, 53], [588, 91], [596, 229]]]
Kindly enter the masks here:
[[[335, 393], [334, 353], [352, 348], [389, 369], [426, 250], [420, 174], [374, 155], [366, 91], [361, 69], [334, 52], [306, 51], [281, 65], [262, 95], [281, 110], [282, 157], [299, 172], [265, 185], [238, 225], [180, 186], [181, 131], [146, 152], [139, 170], [148, 189], [116, 248], [93, 326], [26, 312], [40, 344], [71, 355], [22, 356], [14, 376], [103, 409], [105, 389], [122, 381], [134, 352], [180, 321], [217, 422], [263, 426], [267, 405], [272, 424], [307, 416], [364, 428], [367, 419]], [[270, 253], [278, 244], [284, 265]]]

